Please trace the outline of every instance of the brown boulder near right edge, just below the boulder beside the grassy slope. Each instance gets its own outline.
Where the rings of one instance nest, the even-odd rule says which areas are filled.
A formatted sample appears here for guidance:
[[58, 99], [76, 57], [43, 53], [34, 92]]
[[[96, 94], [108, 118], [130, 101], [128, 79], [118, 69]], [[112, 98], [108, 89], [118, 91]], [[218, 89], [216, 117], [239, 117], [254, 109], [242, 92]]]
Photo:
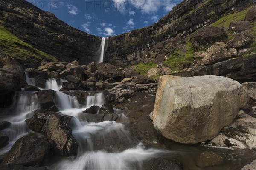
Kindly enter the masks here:
[[227, 42], [228, 48], [241, 48], [252, 42], [253, 35], [247, 31], [238, 34], [234, 39]]

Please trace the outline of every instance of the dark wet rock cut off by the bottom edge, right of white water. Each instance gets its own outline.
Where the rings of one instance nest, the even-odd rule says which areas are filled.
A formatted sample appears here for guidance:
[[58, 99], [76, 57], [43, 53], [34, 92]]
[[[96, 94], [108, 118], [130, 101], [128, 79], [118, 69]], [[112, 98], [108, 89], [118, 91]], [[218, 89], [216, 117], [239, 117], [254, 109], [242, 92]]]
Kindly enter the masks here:
[[151, 159], [147, 170], [183, 170], [181, 163], [177, 159], [156, 158]]

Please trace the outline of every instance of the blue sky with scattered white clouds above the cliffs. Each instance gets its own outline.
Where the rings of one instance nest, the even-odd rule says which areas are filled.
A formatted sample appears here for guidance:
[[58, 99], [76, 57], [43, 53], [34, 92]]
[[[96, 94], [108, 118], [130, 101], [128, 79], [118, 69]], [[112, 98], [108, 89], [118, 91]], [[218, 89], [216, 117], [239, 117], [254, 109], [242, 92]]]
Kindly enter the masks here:
[[181, 0], [27, 0], [72, 27], [100, 37], [150, 26]]

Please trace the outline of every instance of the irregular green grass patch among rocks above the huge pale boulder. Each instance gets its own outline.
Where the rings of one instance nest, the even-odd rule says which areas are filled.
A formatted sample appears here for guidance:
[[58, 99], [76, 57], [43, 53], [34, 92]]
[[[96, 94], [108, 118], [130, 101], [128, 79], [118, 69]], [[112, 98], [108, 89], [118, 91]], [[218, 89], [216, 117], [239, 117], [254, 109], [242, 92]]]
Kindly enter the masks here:
[[186, 52], [181, 53], [177, 49], [166, 61], [163, 62], [163, 65], [172, 69], [172, 73], [180, 71], [178, 68], [179, 64], [182, 62], [192, 62], [194, 48], [191, 42], [186, 43]]

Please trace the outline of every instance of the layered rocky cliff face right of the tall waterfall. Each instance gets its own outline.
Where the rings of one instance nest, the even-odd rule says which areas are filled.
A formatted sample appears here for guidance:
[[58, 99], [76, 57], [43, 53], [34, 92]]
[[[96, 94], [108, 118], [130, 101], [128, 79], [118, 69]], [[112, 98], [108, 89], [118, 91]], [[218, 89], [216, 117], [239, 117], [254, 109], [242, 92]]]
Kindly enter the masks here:
[[110, 37], [104, 62], [125, 66], [142, 62], [151, 57], [148, 55], [157, 57], [161, 51], [155, 48], [172, 48], [172, 44], [184, 41], [184, 35], [249, 4], [250, 0], [184, 0], [154, 25]]

